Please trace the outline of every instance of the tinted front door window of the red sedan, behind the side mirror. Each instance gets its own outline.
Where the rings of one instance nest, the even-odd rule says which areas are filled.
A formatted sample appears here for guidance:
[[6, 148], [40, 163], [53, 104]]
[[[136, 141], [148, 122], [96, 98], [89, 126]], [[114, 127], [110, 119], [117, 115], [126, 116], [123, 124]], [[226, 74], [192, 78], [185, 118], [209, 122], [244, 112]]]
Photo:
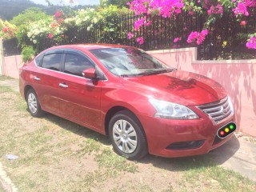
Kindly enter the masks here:
[[76, 55], [66, 54], [64, 72], [82, 77], [82, 71], [94, 68], [94, 64], [89, 59]]

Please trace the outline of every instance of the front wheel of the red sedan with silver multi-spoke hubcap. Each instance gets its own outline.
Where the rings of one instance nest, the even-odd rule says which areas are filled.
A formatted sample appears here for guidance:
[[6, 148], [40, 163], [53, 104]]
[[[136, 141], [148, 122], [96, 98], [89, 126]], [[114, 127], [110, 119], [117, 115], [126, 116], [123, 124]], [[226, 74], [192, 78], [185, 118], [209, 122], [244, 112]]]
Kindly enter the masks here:
[[125, 158], [138, 160], [148, 153], [142, 126], [130, 111], [114, 114], [109, 123], [109, 135], [114, 151]]

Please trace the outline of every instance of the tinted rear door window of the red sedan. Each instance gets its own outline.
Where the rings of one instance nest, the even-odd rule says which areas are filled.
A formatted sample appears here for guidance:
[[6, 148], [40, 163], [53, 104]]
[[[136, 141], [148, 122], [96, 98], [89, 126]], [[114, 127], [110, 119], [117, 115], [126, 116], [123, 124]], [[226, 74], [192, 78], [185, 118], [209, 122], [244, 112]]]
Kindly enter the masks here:
[[59, 70], [62, 54], [47, 54], [42, 59], [42, 67], [50, 70]]

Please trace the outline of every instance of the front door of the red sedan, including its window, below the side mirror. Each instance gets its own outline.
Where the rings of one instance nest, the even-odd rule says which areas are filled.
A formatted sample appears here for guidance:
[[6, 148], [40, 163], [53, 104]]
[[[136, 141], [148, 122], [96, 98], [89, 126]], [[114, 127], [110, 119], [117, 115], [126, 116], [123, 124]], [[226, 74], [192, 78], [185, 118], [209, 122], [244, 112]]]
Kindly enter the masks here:
[[98, 130], [101, 126], [101, 81], [82, 77], [82, 71], [95, 68], [94, 62], [75, 50], [64, 50], [65, 58], [59, 77], [60, 112], [66, 118]]

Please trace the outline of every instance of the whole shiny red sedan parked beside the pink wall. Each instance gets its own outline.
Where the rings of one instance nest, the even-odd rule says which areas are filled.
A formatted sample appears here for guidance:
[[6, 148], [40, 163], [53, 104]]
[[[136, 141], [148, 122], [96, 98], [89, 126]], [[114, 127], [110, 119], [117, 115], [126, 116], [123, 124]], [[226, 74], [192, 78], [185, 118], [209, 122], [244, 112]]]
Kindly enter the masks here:
[[229, 140], [234, 109], [210, 78], [130, 46], [54, 46], [20, 69], [30, 114], [56, 114], [110, 136], [126, 158], [206, 154]]

